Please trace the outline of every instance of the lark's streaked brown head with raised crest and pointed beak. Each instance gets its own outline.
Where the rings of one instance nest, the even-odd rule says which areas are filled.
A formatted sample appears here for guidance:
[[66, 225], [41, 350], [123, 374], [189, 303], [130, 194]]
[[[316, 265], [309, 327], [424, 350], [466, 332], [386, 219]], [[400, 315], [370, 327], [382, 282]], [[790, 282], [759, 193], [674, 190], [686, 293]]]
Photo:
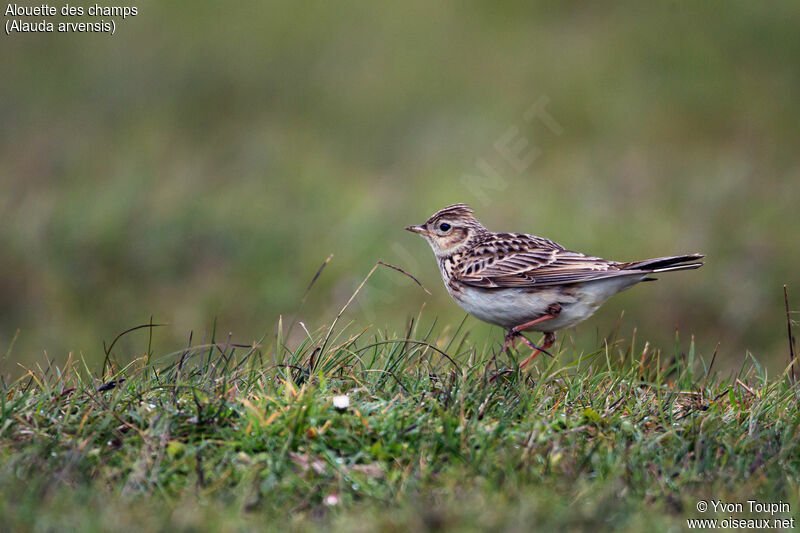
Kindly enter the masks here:
[[467, 204], [449, 205], [434, 213], [424, 224], [406, 229], [425, 237], [436, 257], [457, 253], [475, 235], [486, 231]]

